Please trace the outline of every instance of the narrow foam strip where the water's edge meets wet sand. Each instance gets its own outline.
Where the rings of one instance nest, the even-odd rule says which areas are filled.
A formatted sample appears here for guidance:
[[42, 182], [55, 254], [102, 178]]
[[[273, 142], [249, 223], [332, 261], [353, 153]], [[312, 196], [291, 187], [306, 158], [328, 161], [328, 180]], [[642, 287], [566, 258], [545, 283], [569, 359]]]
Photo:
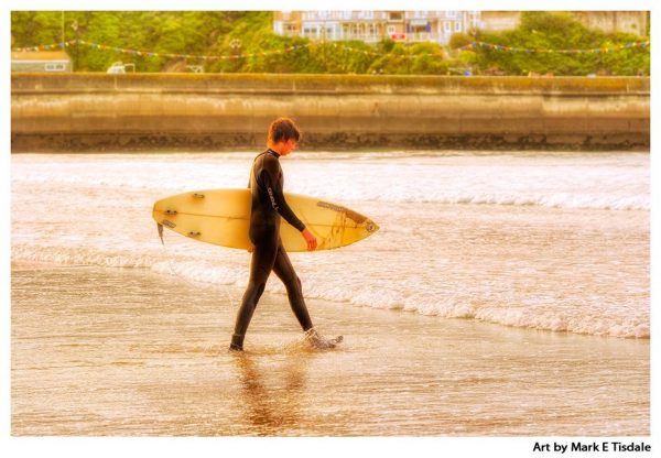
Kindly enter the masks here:
[[[149, 269], [158, 274], [204, 285], [226, 285], [242, 288], [247, 281], [247, 266], [218, 265], [207, 260], [191, 261], [181, 255], [152, 253], [136, 255], [129, 252], [94, 252], [89, 250], [14, 247], [12, 260], [61, 265], [95, 265], [105, 268]], [[544, 303], [494, 304], [476, 303], [470, 294], [447, 295], [433, 286], [421, 291], [419, 285], [405, 283], [365, 284], [346, 279], [310, 276], [305, 280], [305, 295], [356, 306], [382, 309], [403, 309], [421, 315], [444, 318], [478, 319], [507, 326], [568, 331], [597, 336], [649, 338], [650, 328], [644, 314], [636, 313], [633, 304], [610, 310], [590, 308], [588, 304]], [[388, 287], [386, 287], [388, 286]], [[268, 291], [285, 295], [280, 282], [271, 279]], [[235, 297], [238, 301], [238, 296]], [[284, 297], [283, 297], [284, 299]], [[606, 313], [605, 313], [606, 312]]]

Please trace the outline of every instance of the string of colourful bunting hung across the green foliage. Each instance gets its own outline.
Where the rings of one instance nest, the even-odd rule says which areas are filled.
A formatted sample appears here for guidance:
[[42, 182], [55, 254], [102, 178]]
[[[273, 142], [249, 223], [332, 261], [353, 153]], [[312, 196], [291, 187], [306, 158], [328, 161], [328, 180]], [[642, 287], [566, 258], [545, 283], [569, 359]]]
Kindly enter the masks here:
[[[262, 51], [262, 52], [257, 52], [257, 53], [237, 53], [237, 54], [226, 54], [226, 55], [194, 55], [194, 54], [161, 53], [161, 52], [154, 52], [154, 51], [128, 50], [128, 48], [122, 48], [122, 47], [109, 46], [106, 44], [91, 43], [91, 42], [87, 42], [85, 40], [71, 40], [67, 42], [46, 44], [46, 45], [40, 45], [40, 46], [18, 47], [12, 51], [13, 52], [37, 52], [37, 51], [65, 50], [67, 47], [77, 46], [77, 45], [87, 46], [93, 50], [112, 51], [112, 52], [117, 52], [117, 53], [129, 54], [129, 55], [140, 56], [140, 57], [169, 57], [169, 58], [186, 58], [186, 59], [198, 59], [198, 61], [218, 61], [218, 59], [239, 59], [239, 58], [250, 58], [250, 57], [264, 57], [264, 56], [269, 56], [269, 55], [273, 55], [273, 54], [291, 53], [294, 51], [299, 51], [299, 50], [315, 46], [315, 45], [316, 46], [330, 45], [334, 48], [342, 48], [347, 52], [359, 53], [359, 54], [375, 56], [375, 57], [379, 57], [379, 56], [383, 56], [383, 55], [388, 54], [388, 53], [379, 53], [376, 51], [359, 50], [359, 48], [355, 48], [355, 47], [351, 47], [351, 46], [345, 45], [344, 43], [338, 43], [338, 42], [330, 42], [330, 43], [329, 42], [311, 42], [311, 43], [306, 43], [306, 44], [302, 44], [302, 45], [289, 46], [289, 47], [285, 47], [282, 50]], [[464, 46], [456, 47], [453, 51], [475, 51], [475, 52], [477, 52], [480, 50], [488, 50], [488, 51], [509, 52], [509, 53], [525, 53], [525, 54], [608, 54], [608, 53], [619, 52], [622, 50], [646, 50], [649, 46], [650, 46], [649, 41], [642, 41], [642, 42], [631, 42], [631, 43], [626, 43], [626, 44], [620, 44], [620, 45], [609, 45], [609, 46], [602, 46], [602, 47], [587, 48], [587, 50], [544, 50], [544, 48], [523, 48], [523, 47], [506, 46], [506, 45], [501, 45], [501, 44], [474, 41]], [[416, 58], [420, 56], [442, 56], [442, 55], [443, 55], [443, 53], [438, 52], [438, 53], [424, 53], [424, 54], [413, 54], [413, 55], [402, 54], [401, 57]]]

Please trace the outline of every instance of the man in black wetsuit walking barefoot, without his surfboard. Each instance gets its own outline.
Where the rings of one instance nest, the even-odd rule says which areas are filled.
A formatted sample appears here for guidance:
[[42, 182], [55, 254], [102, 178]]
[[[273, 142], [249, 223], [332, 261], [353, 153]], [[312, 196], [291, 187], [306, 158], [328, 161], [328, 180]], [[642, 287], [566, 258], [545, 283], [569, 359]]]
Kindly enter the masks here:
[[282, 217], [301, 231], [301, 236], [307, 243], [307, 250], [313, 251], [317, 246], [316, 238], [292, 211], [282, 193], [280, 157], [294, 151], [300, 138], [301, 133], [291, 119], [277, 119], [269, 127], [268, 150], [259, 154], [252, 164], [249, 182], [252, 192], [249, 237], [253, 244], [249, 251], [252, 252], [252, 260], [250, 280], [243, 293], [229, 346], [232, 351], [243, 350], [246, 330], [271, 271], [275, 272], [284, 283], [292, 310], [305, 331], [307, 340], [316, 348], [332, 348], [338, 341], [323, 338], [312, 325], [303, 299], [301, 281], [280, 240]]

